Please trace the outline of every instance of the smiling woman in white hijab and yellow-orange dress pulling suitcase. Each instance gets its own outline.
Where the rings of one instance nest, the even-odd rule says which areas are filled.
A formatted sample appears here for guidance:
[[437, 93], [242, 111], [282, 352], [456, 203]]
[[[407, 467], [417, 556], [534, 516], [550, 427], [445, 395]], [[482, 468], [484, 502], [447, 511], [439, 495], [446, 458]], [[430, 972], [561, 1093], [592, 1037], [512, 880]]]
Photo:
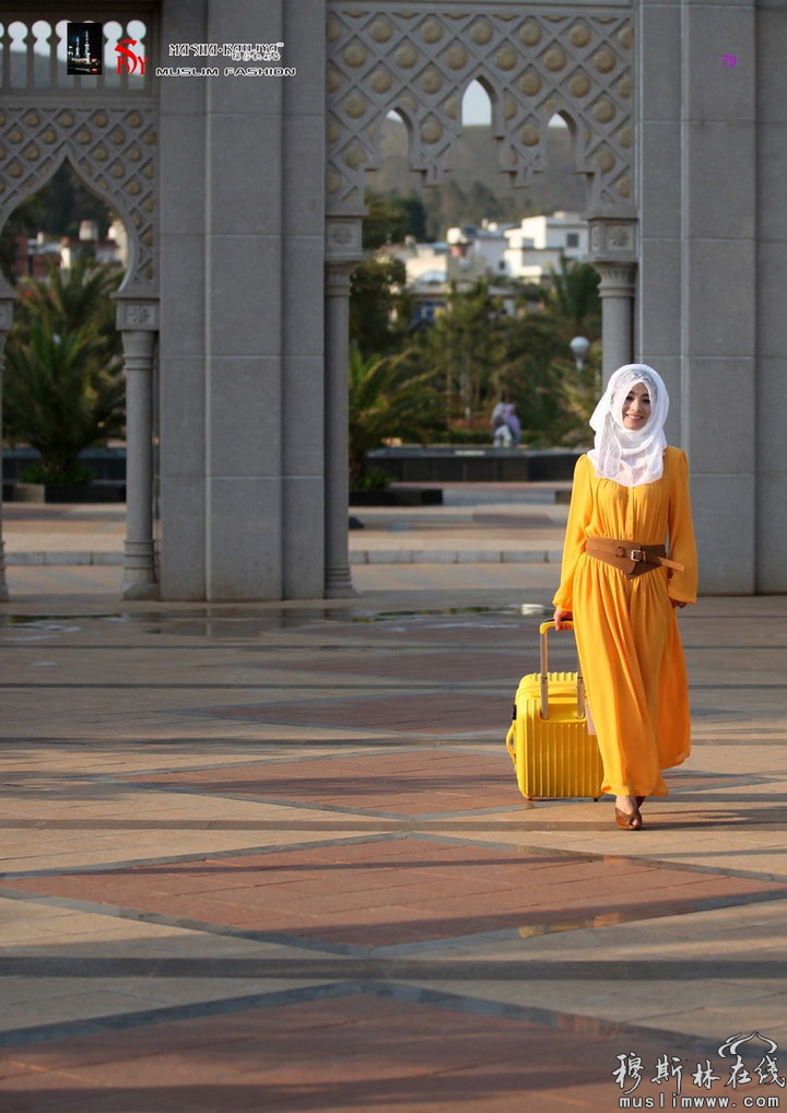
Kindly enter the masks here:
[[[690, 718], [675, 609], [697, 595], [688, 464], [667, 446], [669, 397], [646, 364], [612, 375], [574, 471], [555, 629], [573, 615], [588, 701], [619, 827], [639, 830], [662, 769], [689, 755]], [[669, 540], [669, 556], [666, 543]]]

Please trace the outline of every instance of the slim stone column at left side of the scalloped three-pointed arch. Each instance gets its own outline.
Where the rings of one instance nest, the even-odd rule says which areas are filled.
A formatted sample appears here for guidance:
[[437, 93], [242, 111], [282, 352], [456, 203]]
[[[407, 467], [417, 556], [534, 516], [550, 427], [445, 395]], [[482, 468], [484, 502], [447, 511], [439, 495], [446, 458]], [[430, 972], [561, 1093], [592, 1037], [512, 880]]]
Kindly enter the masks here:
[[325, 598], [354, 595], [347, 544], [350, 504], [350, 275], [354, 263], [325, 268]]

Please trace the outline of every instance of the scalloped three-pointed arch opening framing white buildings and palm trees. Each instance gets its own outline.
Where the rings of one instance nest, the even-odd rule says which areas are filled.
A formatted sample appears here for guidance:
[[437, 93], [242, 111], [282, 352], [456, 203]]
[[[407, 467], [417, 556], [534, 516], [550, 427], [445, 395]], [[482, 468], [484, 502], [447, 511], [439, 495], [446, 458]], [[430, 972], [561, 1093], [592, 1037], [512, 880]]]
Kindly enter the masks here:
[[437, 441], [491, 444], [498, 402], [517, 404], [530, 444], [581, 439], [591, 361], [580, 367], [570, 341], [582, 329], [599, 339], [598, 277], [582, 266], [586, 188], [573, 121], [555, 114], [544, 125], [545, 158], [522, 189], [500, 170], [484, 85], [472, 81], [461, 105], [462, 131], [439, 186], [424, 187], [412, 170], [402, 115], [383, 124], [377, 167], [366, 174], [367, 257], [353, 277], [354, 374], [367, 365], [371, 377], [381, 358], [400, 383], [411, 357], [420, 375], [432, 368], [442, 427], [427, 432]]

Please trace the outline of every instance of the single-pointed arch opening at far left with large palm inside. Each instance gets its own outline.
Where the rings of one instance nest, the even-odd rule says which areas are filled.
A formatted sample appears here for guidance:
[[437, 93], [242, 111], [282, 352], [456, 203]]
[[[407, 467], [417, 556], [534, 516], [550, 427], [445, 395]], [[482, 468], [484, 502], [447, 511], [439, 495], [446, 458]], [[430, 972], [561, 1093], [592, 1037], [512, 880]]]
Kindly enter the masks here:
[[[128, 236], [109, 205], [65, 160], [11, 213], [0, 234], [3, 277], [17, 295], [4, 349], [3, 434], [9, 563], [24, 536], [20, 502], [43, 502], [48, 549], [68, 552], [57, 502], [107, 501], [108, 543], [122, 546], [125, 383], [114, 293], [128, 266]], [[65, 516], [63, 516], [65, 515]], [[111, 539], [111, 540], [110, 540]], [[22, 550], [23, 551], [23, 550]], [[80, 561], [83, 558], [80, 558]], [[26, 575], [12, 568], [14, 578]], [[118, 569], [119, 575], [119, 569]]]

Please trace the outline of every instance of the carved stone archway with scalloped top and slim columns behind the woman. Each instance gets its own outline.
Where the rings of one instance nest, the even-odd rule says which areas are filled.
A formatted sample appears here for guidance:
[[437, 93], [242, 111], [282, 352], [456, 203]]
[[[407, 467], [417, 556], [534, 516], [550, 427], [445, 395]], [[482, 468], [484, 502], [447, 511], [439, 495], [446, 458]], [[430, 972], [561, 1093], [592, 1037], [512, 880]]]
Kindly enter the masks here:
[[[590, 262], [601, 274], [604, 371], [631, 358], [636, 252], [634, 12], [603, 4], [327, 4], [326, 593], [352, 591], [346, 544], [346, 298], [362, 258], [364, 174], [391, 111], [405, 121], [411, 168], [446, 173], [462, 97], [480, 81], [492, 104], [498, 165], [527, 186], [544, 165], [544, 129], [569, 124], [587, 177]], [[344, 303], [344, 307], [343, 307]]]

